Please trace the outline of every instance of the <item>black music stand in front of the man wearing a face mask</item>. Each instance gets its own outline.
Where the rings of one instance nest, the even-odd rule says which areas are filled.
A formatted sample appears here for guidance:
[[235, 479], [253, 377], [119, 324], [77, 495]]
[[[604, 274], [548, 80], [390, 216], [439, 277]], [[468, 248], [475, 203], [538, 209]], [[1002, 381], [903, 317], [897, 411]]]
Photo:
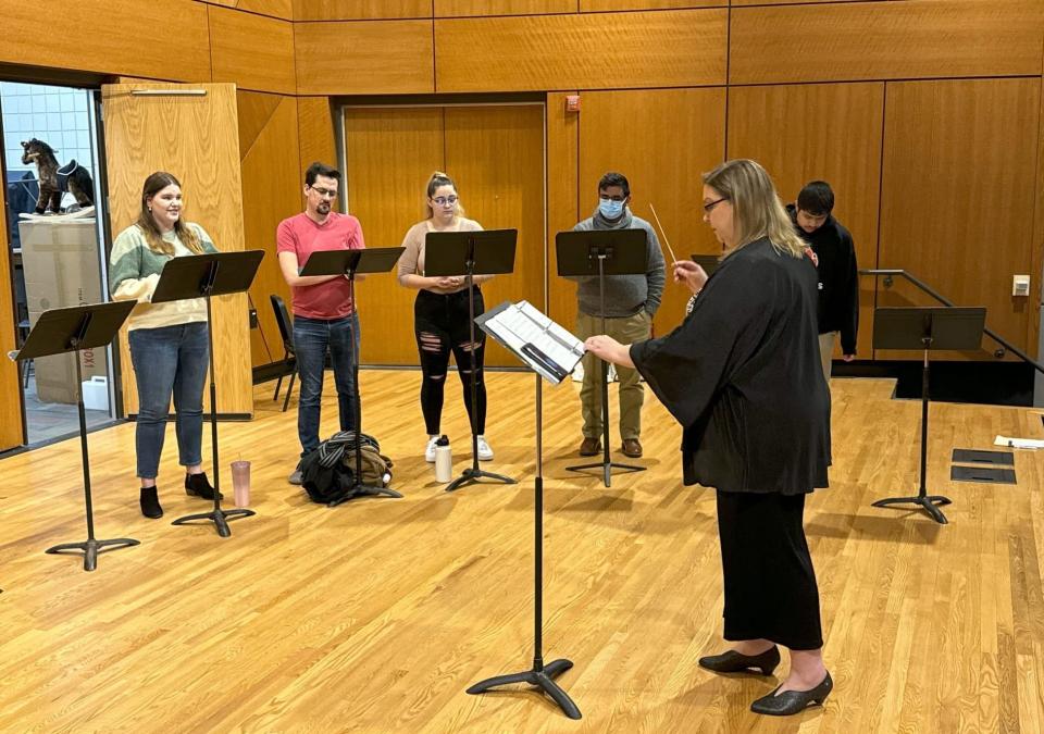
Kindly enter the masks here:
[[[566, 277], [598, 277], [598, 310], [601, 333], [606, 333], [606, 276], [644, 274], [648, 268], [648, 245], [645, 229], [594, 229], [591, 232], [559, 232], [555, 236], [558, 274]], [[601, 461], [567, 466], [582, 472], [601, 469], [602, 482], [611, 484], [613, 469], [644, 472], [645, 466], [622, 464], [609, 458], [609, 365], [598, 360], [601, 381]]]

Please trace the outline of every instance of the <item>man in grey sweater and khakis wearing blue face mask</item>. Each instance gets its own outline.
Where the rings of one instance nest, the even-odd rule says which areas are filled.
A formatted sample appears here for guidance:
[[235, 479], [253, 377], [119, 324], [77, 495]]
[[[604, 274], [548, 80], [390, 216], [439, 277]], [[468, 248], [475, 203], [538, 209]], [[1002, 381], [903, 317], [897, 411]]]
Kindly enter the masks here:
[[[598, 277], [579, 276], [576, 281], [576, 336], [586, 339], [606, 333], [621, 344], [649, 339], [652, 336], [652, 315], [660, 308], [666, 271], [663, 253], [652, 226], [631, 213], [631, 185], [620, 173], [607, 173], [598, 182], [598, 209], [591, 219], [579, 223], [574, 231], [595, 229], [645, 229], [648, 246], [648, 264], [644, 274], [606, 276], [606, 328], [601, 328], [598, 300]], [[584, 440], [580, 456], [601, 453], [601, 400], [598, 391], [600, 369], [597, 358], [584, 356], [584, 384], [580, 390], [584, 416]], [[642, 456], [642, 403], [645, 388], [634, 369], [617, 368], [620, 378], [620, 438], [624, 456], [636, 459]]]

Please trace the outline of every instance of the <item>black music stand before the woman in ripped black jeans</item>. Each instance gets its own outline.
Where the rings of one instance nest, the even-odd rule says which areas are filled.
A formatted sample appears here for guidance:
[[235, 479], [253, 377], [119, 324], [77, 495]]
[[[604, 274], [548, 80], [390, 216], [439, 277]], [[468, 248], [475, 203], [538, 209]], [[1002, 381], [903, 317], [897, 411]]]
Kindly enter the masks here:
[[[468, 333], [475, 344], [475, 275], [501, 275], [514, 270], [514, 248], [518, 229], [480, 229], [477, 232], [428, 232], [424, 239], [424, 275], [464, 275], [468, 284]], [[460, 365], [457, 365], [460, 370]], [[482, 477], [515, 484], [504, 474], [478, 469], [478, 396], [475, 387], [478, 371], [475, 350], [471, 349], [471, 466], [449, 483], [446, 492], [469, 484], [480, 484]]]

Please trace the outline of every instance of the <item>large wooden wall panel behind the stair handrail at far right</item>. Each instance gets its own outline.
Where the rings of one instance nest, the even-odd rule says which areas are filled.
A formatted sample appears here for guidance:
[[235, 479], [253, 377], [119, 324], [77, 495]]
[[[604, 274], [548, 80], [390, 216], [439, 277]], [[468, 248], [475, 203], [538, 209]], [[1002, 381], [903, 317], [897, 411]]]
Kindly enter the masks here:
[[[1011, 276], [1033, 263], [1040, 94], [1040, 79], [899, 82], [885, 101], [880, 265], [985, 306], [986, 324], [1020, 348], [1037, 318]], [[931, 301], [905, 283], [879, 293], [879, 306], [910, 303]]]

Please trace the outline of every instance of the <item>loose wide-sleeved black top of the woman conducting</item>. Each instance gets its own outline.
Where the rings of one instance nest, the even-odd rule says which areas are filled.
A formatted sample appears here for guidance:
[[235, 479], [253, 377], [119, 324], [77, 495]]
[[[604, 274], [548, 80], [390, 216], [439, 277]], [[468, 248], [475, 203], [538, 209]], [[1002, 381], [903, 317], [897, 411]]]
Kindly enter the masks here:
[[685, 484], [797, 495], [826, 486], [830, 395], [816, 269], [768, 238], [726, 257], [693, 312], [631, 359], [682, 424]]

